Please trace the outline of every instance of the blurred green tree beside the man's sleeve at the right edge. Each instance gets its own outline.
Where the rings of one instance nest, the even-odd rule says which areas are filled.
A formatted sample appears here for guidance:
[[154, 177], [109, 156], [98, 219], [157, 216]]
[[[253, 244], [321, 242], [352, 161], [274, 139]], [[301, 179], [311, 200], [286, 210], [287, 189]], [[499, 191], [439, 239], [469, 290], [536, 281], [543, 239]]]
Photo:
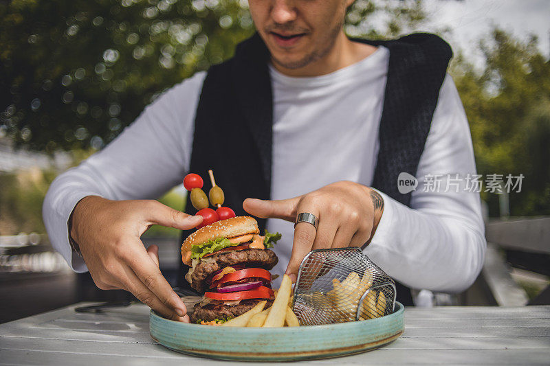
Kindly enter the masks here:
[[[494, 29], [479, 45], [476, 71], [461, 55], [452, 75], [470, 122], [480, 174], [523, 174], [509, 196], [511, 216], [550, 214], [550, 62], [536, 37], [520, 41]], [[498, 215], [496, 194], [483, 194]]]

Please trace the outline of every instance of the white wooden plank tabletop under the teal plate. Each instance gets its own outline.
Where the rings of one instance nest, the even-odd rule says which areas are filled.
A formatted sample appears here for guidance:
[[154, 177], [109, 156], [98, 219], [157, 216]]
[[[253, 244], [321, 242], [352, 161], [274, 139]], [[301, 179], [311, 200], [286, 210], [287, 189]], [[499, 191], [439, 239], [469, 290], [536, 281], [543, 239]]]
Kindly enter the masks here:
[[[405, 327], [397, 341], [379, 350], [302, 363], [550, 365], [550, 306], [406, 308]], [[69, 306], [0, 325], [1, 365], [219, 363], [155, 343], [143, 305], [102, 314], [76, 313]]]

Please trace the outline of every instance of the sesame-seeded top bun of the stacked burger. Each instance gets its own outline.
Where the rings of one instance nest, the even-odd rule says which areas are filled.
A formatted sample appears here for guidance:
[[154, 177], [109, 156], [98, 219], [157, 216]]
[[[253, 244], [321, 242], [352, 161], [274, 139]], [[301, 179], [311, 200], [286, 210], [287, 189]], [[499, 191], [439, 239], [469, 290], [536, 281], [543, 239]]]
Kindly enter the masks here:
[[[210, 225], [201, 227], [184, 241], [181, 245], [181, 255], [186, 257], [186, 253], [191, 250], [192, 245], [202, 244], [208, 240], [216, 238], [234, 238], [247, 234], [260, 233], [258, 222], [250, 216], [236, 216], [227, 220], [213, 222]], [[184, 260], [184, 262], [187, 262]]]

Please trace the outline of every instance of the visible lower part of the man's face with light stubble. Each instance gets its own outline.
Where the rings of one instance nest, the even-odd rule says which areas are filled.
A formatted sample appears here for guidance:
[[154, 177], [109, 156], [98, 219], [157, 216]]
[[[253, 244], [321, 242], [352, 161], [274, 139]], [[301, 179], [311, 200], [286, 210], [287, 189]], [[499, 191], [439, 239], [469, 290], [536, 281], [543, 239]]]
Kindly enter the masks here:
[[329, 53], [352, 2], [249, 0], [248, 4], [272, 60], [286, 69], [300, 69]]

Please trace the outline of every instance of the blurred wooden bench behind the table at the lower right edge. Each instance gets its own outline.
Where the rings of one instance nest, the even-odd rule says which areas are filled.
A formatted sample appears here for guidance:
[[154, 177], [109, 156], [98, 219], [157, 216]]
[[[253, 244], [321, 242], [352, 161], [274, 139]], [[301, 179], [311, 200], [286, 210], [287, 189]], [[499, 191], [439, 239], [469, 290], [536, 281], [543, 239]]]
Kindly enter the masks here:
[[485, 266], [465, 305], [550, 305], [550, 217], [487, 224]]

